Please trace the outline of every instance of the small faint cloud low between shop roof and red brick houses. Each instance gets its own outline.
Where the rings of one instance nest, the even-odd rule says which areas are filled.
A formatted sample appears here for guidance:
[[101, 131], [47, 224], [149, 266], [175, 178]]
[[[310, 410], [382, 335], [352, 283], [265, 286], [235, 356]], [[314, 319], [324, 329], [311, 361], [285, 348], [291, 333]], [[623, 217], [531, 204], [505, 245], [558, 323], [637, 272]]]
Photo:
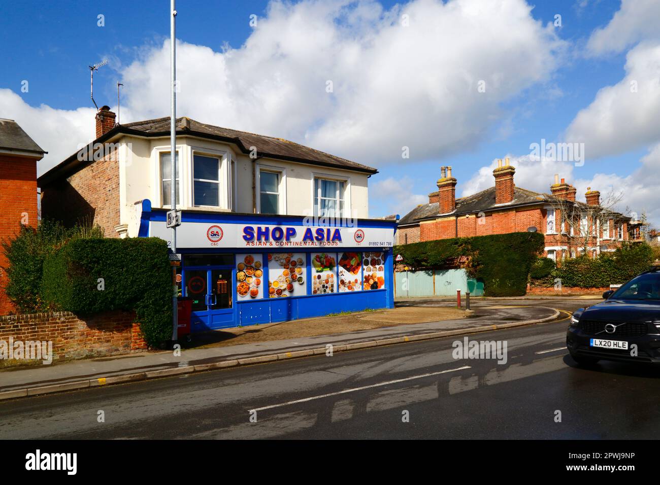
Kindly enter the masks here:
[[[427, 204], [428, 195], [413, 192], [413, 180], [409, 177], [378, 180], [369, 184], [369, 213], [372, 217], [399, 214], [401, 217], [418, 204]], [[429, 189], [429, 192], [432, 192]]]

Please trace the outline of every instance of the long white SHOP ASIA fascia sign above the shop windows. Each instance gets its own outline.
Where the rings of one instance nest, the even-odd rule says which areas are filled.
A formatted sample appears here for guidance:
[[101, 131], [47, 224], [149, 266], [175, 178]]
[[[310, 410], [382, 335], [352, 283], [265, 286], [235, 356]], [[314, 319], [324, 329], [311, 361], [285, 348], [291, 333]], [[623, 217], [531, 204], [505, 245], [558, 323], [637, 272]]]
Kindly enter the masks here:
[[[149, 236], [170, 241], [172, 230], [165, 222], [150, 222]], [[222, 247], [391, 247], [394, 228], [337, 226], [279, 226], [230, 224], [224, 222], [182, 222], [176, 230], [176, 246]]]

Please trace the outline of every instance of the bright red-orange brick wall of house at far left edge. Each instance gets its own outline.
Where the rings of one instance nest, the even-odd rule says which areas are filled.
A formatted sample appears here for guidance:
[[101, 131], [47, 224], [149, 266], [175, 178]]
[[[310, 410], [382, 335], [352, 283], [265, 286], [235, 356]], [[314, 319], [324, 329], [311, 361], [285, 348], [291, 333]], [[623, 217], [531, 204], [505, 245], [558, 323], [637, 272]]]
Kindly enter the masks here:
[[[37, 226], [37, 164], [34, 158], [0, 154], [0, 242], [8, 240], [20, 229], [23, 214], [27, 223]], [[0, 315], [13, 307], [3, 291], [7, 275], [3, 268], [7, 260], [0, 251]]]

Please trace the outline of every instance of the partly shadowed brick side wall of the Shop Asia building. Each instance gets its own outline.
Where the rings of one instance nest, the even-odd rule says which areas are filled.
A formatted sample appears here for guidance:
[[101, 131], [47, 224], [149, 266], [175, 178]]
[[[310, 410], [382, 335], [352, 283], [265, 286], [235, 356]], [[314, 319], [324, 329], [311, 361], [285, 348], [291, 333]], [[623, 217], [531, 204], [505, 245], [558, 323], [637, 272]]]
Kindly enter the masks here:
[[119, 162], [117, 150], [76, 174], [42, 187], [42, 216], [73, 226], [90, 218], [117, 238], [119, 224]]

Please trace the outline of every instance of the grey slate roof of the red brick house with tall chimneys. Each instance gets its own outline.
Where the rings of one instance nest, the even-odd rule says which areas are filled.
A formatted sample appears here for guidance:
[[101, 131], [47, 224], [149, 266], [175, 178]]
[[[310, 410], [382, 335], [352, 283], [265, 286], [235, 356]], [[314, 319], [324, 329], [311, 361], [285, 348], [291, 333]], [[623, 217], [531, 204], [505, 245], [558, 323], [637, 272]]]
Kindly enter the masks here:
[[[512, 207], [521, 207], [539, 203], [558, 203], [560, 200], [562, 199], [558, 199], [554, 195], [548, 193], [540, 193], [521, 189], [520, 187], [513, 187], [513, 201], [506, 204], [496, 204], [495, 187], [489, 187], [488, 189], [482, 190], [473, 195], [456, 199], [456, 209], [449, 214], [440, 214], [440, 204], [437, 202], [420, 204], [399, 220], [399, 226], [417, 224], [420, 220], [435, 219], [442, 215], [456, 216], [462, 214], [475, 214], [477, 212], [492, 212], [493, 210], [498, 209], [510, 209]], [[575, 201], [574, 204], [582, 209], [590, 207], [586, 203], [580, 201]], [[627, 218], [619, 212], [609, 212], [612, 212], [612, 215]]]

